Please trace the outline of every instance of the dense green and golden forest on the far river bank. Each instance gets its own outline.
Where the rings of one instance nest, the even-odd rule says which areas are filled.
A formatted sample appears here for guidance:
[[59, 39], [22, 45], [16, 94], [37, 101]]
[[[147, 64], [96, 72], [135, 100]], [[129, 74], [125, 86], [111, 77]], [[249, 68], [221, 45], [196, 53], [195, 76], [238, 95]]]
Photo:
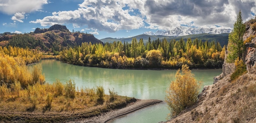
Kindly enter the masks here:
[[191, 68], [220, 68], [226, 46], [219, 42], [189, 38], [176, 41], [165, 38], [150, 40], [132, 39], [131, 43], [82, 43], [81, 46], [65, 48], [60, 60], [65, 63], [104, 68], [172, 69], [189, 65]]

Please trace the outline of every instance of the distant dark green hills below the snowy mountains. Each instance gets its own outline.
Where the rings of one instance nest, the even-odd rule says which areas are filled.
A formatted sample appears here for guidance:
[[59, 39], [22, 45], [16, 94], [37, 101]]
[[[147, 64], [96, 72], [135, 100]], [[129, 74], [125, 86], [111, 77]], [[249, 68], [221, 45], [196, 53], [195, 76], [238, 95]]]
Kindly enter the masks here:
[[134, 37], [130, 37], [130, 38], [121, 38], [121, 39], [115, 39], [115, 38], [105, 38], [105, 39], [100, 39], [102, 42], [106, 43], [106, 42], [114, 42], [114, 41], [121, 41], [124, 43], [124, 41], [131, 43], [132, 38], [136, 38], [137, 40], [139, 39], [143, 39], [144, 43], [146, 43], [148, 41], [148, 37], [150, 37], [151, 41], [153, 40], [157, 40], [158, 38], [160, 40], [166, 38], [167, 41], [170, 41], [171, 39], [175, 39], [175, 40], [180, 40], [181, 38], [184, 39], [185, 41], [188, 38], [191, 38], [192, 40], [198, 38], [199, 40], [202, 39], [202, 41], [218, 41], [220, 42], [220, 45], [223, 47], [224, 45], [227, 45], [227, 39], [229, 37], [229, 33], [222, 33], [222, 34], [207, 34], [207, 33], [203, 33], [203, 34], [197, 34], [197, 35], [186, 35], [186, 36], [180, 36], [180, 37], [173, 37], [173, 36], [163, 36], [163, 35], [137, 35]]

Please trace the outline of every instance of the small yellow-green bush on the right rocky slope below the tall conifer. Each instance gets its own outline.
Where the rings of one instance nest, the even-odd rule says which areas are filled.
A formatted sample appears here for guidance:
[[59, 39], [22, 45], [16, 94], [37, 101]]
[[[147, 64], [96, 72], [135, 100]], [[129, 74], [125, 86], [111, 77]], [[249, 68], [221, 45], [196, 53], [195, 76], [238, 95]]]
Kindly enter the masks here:
[[236, 78], [243, 75], [244, 73], [247, 73], [246, 65], [242, 59], [239, 60], [239, 58], [237, 58], [235, 60], [235, 65], [236, 65], [236, 69], [235, 69], [234, 73], [232, 73], [230, 76], [231, 80], [235, 80]]

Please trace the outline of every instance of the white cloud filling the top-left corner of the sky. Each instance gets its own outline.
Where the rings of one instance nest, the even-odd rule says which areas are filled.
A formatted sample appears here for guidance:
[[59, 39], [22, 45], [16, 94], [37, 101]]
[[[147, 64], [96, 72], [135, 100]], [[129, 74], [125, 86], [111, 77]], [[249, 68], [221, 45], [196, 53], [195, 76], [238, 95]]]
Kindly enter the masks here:
[[42, 9], [47, 0], [0, 0], [0, 11], [9, 15]]

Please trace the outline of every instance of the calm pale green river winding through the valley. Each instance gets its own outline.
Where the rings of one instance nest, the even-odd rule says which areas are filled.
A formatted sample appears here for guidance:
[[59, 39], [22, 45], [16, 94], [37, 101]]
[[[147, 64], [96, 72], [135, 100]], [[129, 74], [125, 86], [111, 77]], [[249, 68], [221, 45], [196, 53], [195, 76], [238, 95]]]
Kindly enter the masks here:
[[[61, 63], [58, 60], [40, 60], [46, 82], [53, 83], [56, 79], [65, 83], [74, 80], [80, 89], [103, 86], [105, 93], [114, 88], [118, 95], [137, 99], [164, 100], [168, 85], [175, 78], [176, 70], [131, 70], [105, 69], [98, 67], [82, 67]], [[33, 66], [33, 65], [31, 65]], [[203, 85], [213, 84], [213, 77], [220, 75], [222, 69], [192, 70], [197, 80]], [[169, 110], [166, 103], [157, 104], [137, 110], [131, 114], [109, 121], [108, 123], [158, 123], [166, 121]]]

